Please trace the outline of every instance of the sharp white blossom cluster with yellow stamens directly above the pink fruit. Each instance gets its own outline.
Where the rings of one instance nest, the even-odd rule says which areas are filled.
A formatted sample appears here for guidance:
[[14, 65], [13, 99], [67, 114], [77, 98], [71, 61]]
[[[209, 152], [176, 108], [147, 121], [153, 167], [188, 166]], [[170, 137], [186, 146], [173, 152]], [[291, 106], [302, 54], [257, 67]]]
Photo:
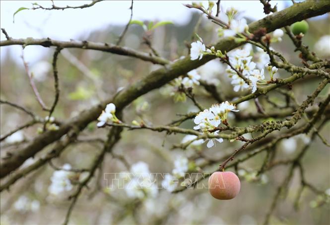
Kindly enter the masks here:
[[[238, 112], [234, 104], [229, 103], [228, 101], [222, 102], [221, 104], [214, 104], [209, 109], [205, 109], [202, 112], [199, 112], [194, 119], [196, 126], [195, 130], [201, 130], [203, 134], [214, 134], [216, 135], [219, 130], [216, 130], [221, 124], [227, 124], [228, 112]], [[215, 130], [215, 131], [214, 131]], [[222, 143], [223, 139], [215, 139], [217, 142]], [[206, 141], [206, 140], [204, 140]], [[208, 140], [207, 148], [214, 146], [212, 139]]]

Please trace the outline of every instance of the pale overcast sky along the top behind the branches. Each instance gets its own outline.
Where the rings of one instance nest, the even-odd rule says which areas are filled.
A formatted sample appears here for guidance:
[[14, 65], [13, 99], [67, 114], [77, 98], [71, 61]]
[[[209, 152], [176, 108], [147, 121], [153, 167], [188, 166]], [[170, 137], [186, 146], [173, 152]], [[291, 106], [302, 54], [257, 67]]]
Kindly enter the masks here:
[[[32, 2], [37, 2], [43, 6], [51, 6], [50, 0], [1, 0], [0, 1], [0, 25], [5, 28], [9, 36], [13, 38], [43, 38], [50, 37], [59, 40], [70, 38], [87, 37], [90, 32], [102, 29], [110, 24], [124, 25], [130, 18], [131, 0], [102, 1], [94, 6], [84, 9], [66, 10], [22, 10], [15, 16], [13, 23], [13, 13], [19, 7], [32, 7]], [[81, 0], [54, 0], [57, 6], [75, 6], [90, 3], [91, 1]], [[195, 9], [189, 9], [183, 3], [192, 1], [171, 0], [171, 1], [143, 1], [135, 0], [133, 4], [133, 19], [138, 20], [171, 20], [176, 24], [188, 23], [191, 13]], [[277, 3], [278, 9], [291, 5], [291, 1], [271, 1]], [[203, 2], [207, 5], [207, 1]], [[259, 1], [221, 1], [221, 6], [225, 9], [234, 6], [244, 12], [246, 17], [253, 20], [261, 19], [265, 15], [263, 6]], [[5, 37], [1, 33], [0, 39]], [[47, 49], [39, 46], [29, 46], [24, 50], [24, 55], [30, 63], [39, 60]], [[21, 55], [20, 46], [1, 47], [1, 58], [10, 49], [11, 55], [18, 58]]]

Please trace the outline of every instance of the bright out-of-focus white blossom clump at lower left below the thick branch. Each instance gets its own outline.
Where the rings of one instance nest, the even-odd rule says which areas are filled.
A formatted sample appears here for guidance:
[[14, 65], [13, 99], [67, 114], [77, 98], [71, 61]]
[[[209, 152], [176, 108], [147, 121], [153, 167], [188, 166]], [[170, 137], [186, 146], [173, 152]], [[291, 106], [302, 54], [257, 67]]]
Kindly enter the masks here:
[[73, 186], [71, 184], [70, 177], [73, 172], [67, 171], [71, 169], [71, 165], [66, 163], [63, 165], [63, 170], [54, 171], [51, 177], [51, 185], [48, 188], [48, 192], [53, 195], [59, 195], [62, 192], [72, 190]]

